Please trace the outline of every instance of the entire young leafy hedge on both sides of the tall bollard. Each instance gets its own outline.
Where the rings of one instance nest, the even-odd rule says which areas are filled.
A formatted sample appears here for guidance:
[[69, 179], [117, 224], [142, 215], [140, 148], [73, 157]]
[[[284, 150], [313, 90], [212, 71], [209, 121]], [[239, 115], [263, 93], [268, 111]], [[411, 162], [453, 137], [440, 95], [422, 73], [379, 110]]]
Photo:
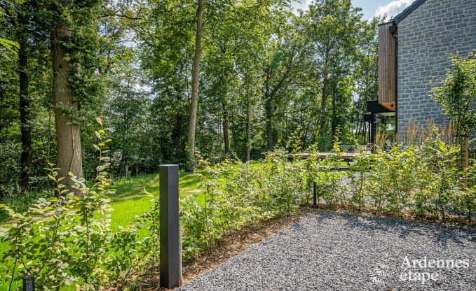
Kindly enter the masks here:
[[[51, 167], [57, 197], [40, 198], [25, 213], [1, 206], [13, 218], [11, 228], [2, 228], [2, 241], [8, 249], [1, 259], [13, 286], [27, 274], [36, 276], [43, 290], [76, 285], [80, 290], [116, 288], [123, 290], [144, 269], [158, 262], [159, 201], [136, 217], [128, 226], [112, 232], [109, 227], [109, 157], [103, 141], [105, 132], [97, 132], [100, 141], [99, 166], [94, 182], [72, 176], [69, 190], [60, 183], [57, 169]], [[198, 157], [203, 171], [200, 191], [183, 193], [179, 217], [183, 227], [184, 257], [189, 259], [210, 250], [217, 240], [245, 223], [254, 223], [294, 213], [308, 204], [313, 183], [318, 197], [327, 204], [372, 207], [378, 212], [417, 215], [468, 214], [475, 210], [476, 170], [468, 171], [468, 184], [458, 165], [460, 150], [429, 136], [418, 146], [394, 146], [388, 151], [359, 152], [348, 171], [341, 166], [341, 149], [327, 159], [318, 160], [315, 147], [308, 159], [287, 160], [285, 150], [268, 152], [259, 162], [225, 160], [211, 164]], [[140, 237], [137, 230], [146, 227]]]

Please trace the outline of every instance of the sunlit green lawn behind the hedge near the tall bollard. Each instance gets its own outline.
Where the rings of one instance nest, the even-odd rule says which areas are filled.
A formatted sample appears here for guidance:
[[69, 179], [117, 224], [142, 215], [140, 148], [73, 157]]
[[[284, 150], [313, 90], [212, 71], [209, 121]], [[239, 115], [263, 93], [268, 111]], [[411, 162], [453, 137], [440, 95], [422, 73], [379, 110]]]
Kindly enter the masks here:
[[[202, 171], [198, 171], [205, 175]], [[190, 174], [190, 173], [180, 173], [179, 174], [179, 190], [180, 196], [185, 197], [191, 191], [200, 191], [198, 189], [198, 183], [200, 182], [200, 177]], [[135, 176], [132, 178], [121, 178], [114, 180], [113, 187], [116, 189], [116, 194], [111, 195], [111, 206], [114, 209], [111, 212], [111, 230], [113, 232], [118, 230], [119, 226], [125, 226], [132, 222], [133, 218], [136, 215], [142, 215], [152, 206], [151, 197], [144, 193], [144, 190], [158, 197], [159, 191], [159, 177], [157, 173], [154, 174], [144, 174], [140, 176]], [[15, 205], [11, 205], [17, 211], [26, 210], [27, 205], [34, 202], [33, 197], [39, 198], [44, 197], [46, 194], [32, 193], [27, 194], [28, 199], [22, 199], [26, 205], [21, 205], [20, 202], [13, 201]], [[203, 199], [198, 195], [198, 203], [200, 204]], [[3, 224], [0, 227], [8, 227], [11, 225], [11, 221], [8, 221], [6, 215], [0, 215], [0, 221], [3, 221]], [[144, 236], [147, 233], [147, 229], [139, 229], [138, 234]], [[4, 252], [8, 248], [7, 243], [0, 243], [0, 256], [3, 256]], [[0, 266], [1, 267], [1, 266]], [[1, 271], [1, 269], [0, 269]], [[0, 278], [3, 277], [3, 274], [0, 274]], [[3, 280], [2, 280], [3, 281]], [[5, 282], [0, 282], [0, 290], [4, 290], [8, 287], [5, 285]]]

